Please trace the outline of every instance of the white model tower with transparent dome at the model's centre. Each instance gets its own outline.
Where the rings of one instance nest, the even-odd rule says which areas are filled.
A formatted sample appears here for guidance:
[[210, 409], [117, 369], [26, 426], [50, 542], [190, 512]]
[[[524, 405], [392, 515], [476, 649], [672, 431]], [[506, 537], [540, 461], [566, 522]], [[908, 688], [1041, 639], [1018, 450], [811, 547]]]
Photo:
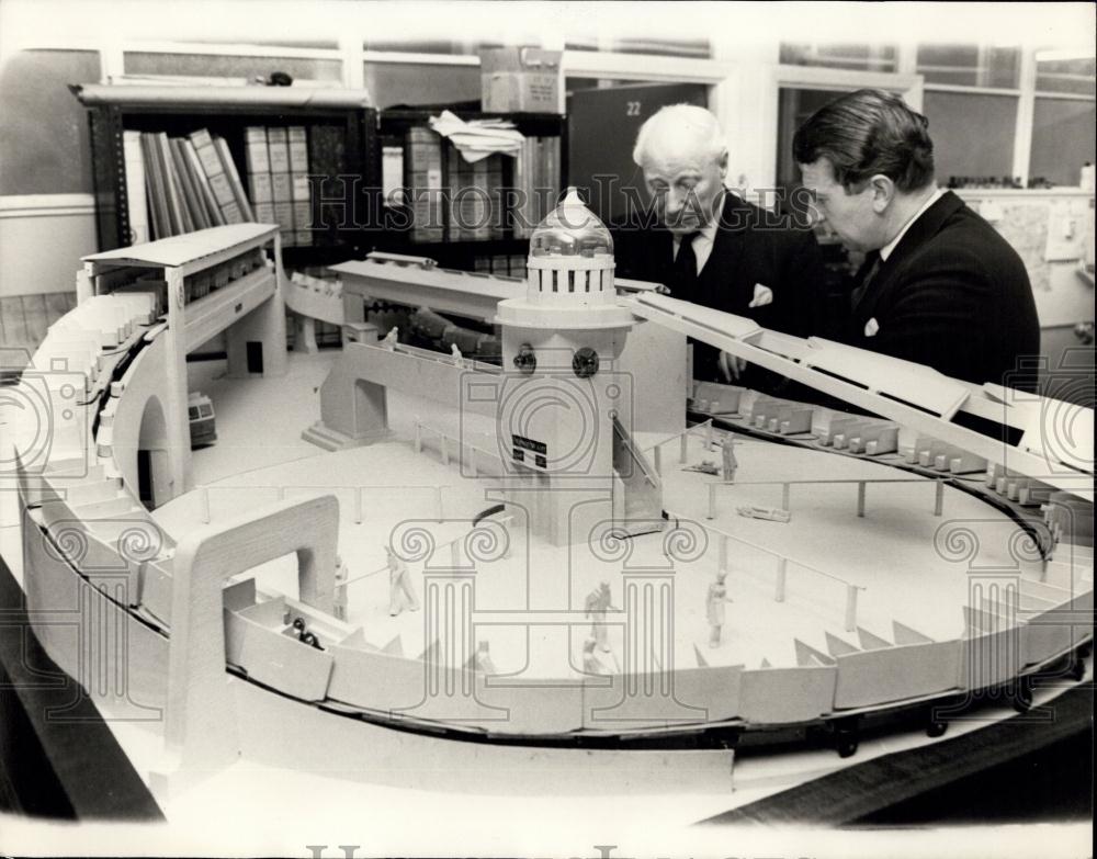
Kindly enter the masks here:
[[510, 499], [534, 533], [565, 545], [613, 519], [615, 495], [623, 515], [614, 432], [631, 432], [633, 386], [617, 362], [635, 318], [617, 303], [613, 239], [575, 189], [533, 231], [527, 269], [525, 297], [500, 302], [496, 317], [499, 441], [520, 478]]

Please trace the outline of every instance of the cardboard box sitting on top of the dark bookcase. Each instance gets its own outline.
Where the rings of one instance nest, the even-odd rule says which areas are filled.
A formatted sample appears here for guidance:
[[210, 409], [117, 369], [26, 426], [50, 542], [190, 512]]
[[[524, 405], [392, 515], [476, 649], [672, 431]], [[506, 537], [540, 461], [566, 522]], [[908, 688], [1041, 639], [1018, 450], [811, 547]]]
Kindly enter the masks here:
[[561, 56], [559, 50], [531, 47], [480, 50], [483, 109], [507, 113], [562, 113]]

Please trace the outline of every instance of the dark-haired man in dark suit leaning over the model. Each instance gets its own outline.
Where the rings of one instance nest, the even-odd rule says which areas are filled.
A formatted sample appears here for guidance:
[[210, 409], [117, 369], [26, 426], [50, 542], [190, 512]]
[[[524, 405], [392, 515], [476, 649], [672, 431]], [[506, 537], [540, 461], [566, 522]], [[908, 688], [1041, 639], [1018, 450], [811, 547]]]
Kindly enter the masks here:
[[867, 255], [839, 336], [948, 376], [1005, 384], [1040, 349], [1032, 287], [994, 227], [937, 188], [927, 127], [897, 95], [858, 90], [793, 138], [818, 217]]

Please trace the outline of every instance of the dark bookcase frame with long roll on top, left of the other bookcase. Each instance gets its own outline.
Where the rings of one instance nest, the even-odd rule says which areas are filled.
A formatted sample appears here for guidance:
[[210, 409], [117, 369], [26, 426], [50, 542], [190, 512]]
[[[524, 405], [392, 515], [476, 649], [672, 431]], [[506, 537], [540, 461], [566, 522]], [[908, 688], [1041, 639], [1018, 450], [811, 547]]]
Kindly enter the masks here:
[[[73, 86], [71, 89], [88, 109], [100, 250], [133, 244], [126, 132], [162, 132], [171, 138], [181, 138], [207, 129], [224, 138], [247, 187], [246, 129], [256, 126], [303, 126], [307, 134], [308, 172], [314, 177], [312, 223], [325, 227], [309, 230], [309, 245], [284, 242], [286, 267], [325, 265], [364, 256], [370, 250], [369, 226], [378, 223], [381, 212], [376, 191], [381, 160], [376, 111], [364, 106], [364, 93], [294, 91], [292, 87], [212, 87], [196, 91], [176, 87]], [[317, 180], [316, 176], [327, 178]], [[338, 177], [350, 177], [350, 181], [344, 183]], [[354, 217], [340, 224], [340, 208], [353, 212]]]

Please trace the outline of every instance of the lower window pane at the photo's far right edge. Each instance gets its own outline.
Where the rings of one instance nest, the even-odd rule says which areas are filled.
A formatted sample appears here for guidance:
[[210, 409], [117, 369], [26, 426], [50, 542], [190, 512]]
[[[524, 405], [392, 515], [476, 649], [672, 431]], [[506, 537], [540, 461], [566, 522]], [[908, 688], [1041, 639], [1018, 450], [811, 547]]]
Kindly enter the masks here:
[[1037, 99], [1029, 176], [1056, 185], [1077, 185], [1082, 165], [1097, 161], [1095, 123], [1097, 108], [1092, 101]]

